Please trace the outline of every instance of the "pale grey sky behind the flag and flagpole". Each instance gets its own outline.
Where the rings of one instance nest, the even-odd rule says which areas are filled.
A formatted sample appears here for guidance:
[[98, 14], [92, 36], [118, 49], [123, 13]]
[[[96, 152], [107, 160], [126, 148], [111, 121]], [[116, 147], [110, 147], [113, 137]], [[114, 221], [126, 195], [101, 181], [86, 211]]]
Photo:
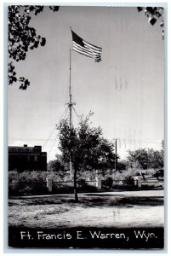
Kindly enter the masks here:
[[[69, 98], [72, 27], [81, 38], [102, 47], [99, 63], [71, 50], [77, 115], [93, 111], [91, 125], [100, 125], [105, 138], [117, 138], [121, 158], [129, 149], [161, 148], [164, 52], [158, 24], [151, 26], [144, 13], [133, 7], [61, 6], [57, 13], [45, 8], [32, 17], [31, 26], [47, 44], [29, 51], [26, 61], [16, 64], [18, 75], [31, 85], [27, 90], [19, 90], [19, 84], [8, 88], [9, 145], [42, 145], [48, 160], [59, 154], [55, 124]], [[75, 126], [77, 115], [73, 113]]]

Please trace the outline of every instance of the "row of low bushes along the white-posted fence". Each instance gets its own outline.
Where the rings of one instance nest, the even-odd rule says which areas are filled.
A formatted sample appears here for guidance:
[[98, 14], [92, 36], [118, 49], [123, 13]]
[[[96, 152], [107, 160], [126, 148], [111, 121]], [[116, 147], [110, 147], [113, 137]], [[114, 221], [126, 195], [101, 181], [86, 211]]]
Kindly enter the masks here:
[[[133, 189], [134, 176], [140, 175], [139, 169], [131, 169], [123, 172], [114, 172], [108, 177], [102, 177], [102, 189]], [[147, 170], [149, 175], [155, 173], [154, 170]], [[81, 177], [81, 174], [82, 177]], [[78, 192], [95, 192], [95, 171], [80, 172], [77, 179]], [[67, 174], [64, 179], [58, 173], [54, 172], [9, 172], [9, 195], [43, 195], [48, 193], [46, 178], [50, 176], [53, 179], [53, 193], [73, 193], [73, 181], [70, 181], [70, 175]], [[102, 175], [100, 175], [102, 176]], [[89, 181], [94, 181], [90, 183]], [[143, 186], [154, 187], [154, 183], [143, 184]]]

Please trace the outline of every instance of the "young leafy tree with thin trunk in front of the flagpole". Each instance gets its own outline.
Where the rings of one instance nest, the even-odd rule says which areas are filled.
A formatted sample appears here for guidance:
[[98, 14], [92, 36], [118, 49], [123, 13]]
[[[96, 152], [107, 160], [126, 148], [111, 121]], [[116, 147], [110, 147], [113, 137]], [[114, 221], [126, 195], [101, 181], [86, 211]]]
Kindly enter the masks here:
[[92, 169], [105, 169], [114, 166], [114, 145], [102, 137], [100, 127], [90, 127], [88, 121], [92, 113], [82, 119], [77, 128], [70, 130], [67, 120], [62, 120], [60, 131], [60, 151], [64, 162], [71, 160], [74, 169], [74, 194], [77, 197], [77, 172]]

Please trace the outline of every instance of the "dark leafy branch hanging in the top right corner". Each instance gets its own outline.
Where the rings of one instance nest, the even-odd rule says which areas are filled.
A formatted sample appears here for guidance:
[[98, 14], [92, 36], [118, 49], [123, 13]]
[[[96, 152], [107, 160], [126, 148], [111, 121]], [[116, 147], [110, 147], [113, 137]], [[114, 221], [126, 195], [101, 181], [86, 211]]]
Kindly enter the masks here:
[[151, 26], [159, 23], [162, 28], [162, 39], [164, 38], [164, 22], [163, 22], [163, 8], [162, 7], [137, 7], [138, 11], [144, 11], [145, 16], [148, 18], [148, 22]]

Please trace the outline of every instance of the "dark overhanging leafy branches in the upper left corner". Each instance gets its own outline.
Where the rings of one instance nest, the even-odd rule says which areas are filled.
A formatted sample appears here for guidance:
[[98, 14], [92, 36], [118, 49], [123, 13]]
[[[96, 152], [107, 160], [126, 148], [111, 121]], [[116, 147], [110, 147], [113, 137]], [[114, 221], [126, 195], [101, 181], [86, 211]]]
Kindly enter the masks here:
[[[43, 8], [41, 5], [9, 6], [9, 84], [19, 81], [22, 90], [26, 90], [30, 82], [24, 77], [16, 77], [14, 61], [24, 61], [29, 49], [46, 44], [46, 38], [37, 35], [36, 29], [29, 24], [31, 15], [43, 12]], [[55, 12], [58, 11], [59, 6], [49, 6], [49, 9]]]

